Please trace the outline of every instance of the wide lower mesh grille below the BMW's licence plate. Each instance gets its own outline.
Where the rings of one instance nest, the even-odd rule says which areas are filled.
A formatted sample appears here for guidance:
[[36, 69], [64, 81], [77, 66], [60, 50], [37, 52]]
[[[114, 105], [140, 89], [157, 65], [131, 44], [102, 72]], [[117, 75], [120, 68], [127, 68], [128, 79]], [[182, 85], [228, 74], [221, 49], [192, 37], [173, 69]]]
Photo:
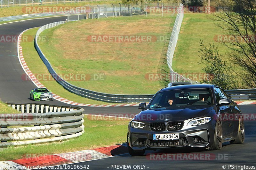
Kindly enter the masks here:
[[175, 147], [175, 146], [185, 146], [188, 144], [186, 138], [180, 138], [179, 140], [166, 140], [166, 141], [154, 141], [148, 140], [149, 147]]

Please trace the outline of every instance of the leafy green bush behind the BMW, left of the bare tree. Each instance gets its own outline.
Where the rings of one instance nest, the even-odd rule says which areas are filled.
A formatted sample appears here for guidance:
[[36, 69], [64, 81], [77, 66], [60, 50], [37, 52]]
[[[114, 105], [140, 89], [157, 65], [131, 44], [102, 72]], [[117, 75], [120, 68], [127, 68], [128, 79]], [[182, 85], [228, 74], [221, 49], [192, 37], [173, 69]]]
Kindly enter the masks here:
[[208, 75], [203, 83], [216, 84], [224, 89], [238, 89], [239, 83], [237, 77], [233, 74], [234, 70], [231, 65], [224, 60], [223, 55], [219, 54], [218, 46], [209, 44], [204, 46], [204, 42], [200, 41], [200, 62], [204, 64], [203, 71]]

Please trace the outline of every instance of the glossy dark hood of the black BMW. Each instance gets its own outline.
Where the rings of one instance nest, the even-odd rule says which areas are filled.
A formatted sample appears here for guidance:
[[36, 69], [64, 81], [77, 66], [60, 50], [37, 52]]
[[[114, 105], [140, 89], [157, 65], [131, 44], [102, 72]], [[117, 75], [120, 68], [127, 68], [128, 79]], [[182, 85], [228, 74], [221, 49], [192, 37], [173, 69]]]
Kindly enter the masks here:
[[187, 120], [191, 118], [203, 117], [214, 110], [214, 106], [207, 108], [194, 106], [154, 108], [141, 111], [134, 117], [134, 120], [159, 121], [166, 118], [169, 119], [169, 121]]

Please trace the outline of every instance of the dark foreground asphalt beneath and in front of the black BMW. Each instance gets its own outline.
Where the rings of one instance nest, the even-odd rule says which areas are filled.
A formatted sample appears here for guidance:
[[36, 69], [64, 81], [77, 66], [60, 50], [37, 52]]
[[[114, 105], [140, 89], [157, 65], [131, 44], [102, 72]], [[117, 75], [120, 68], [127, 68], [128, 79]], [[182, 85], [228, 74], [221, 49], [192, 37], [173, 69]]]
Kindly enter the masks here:
[[[243, 105], [240, 106], [243, 113], [252, 114], [256, 113], [255, 105]], [[124, 168], [124, 165], [131, 165], [129, 169], [140, 169], [137, 165], [144, 169], [232, 169], [228, 166], [256, 166], [255, 161], [255, 119], [247, 120], [245, 124], [245, 142], [244, 144], [229, 144], [229, 142], [223, 143], [221, 150], [209, 151], [209, 150], [182, 150], [182, 149], [171, 149], [171, 150], [157, 150], [147, 151], [144, 156], [132, 157], [129, 154], [123, 154], [120, 156], [109, 157], [105, 159], [98, 159], [74, 164], [68, 164], [61, 168], [71, 167], [89, 167], [92, 170], [98, 169], [128, 169]], [[150, 154], [158, 154], [150, 156]], [[167, 156], [168, 155], [168, 156]], [[175, 156], [174, 156], [175, 155]], [[181, 156], [180, 156], [181, 155]], [[177, 159], [177, 157], [179, 158]], [[194, 158], [196, 160], [194, 160]], [[199, 159], [198, 159], [199, 158]], [[174, 160], [173, 160], [174, 159]], [[78, 166], [79, 165], [79, 166]], [[85, 166], [86, 165], [86, 166]], [[117, 165], [119, 165], [117, 168]], [[116, 168], [114, 168], [116, 166]], [[123, 168], [121, 168], [123, 166]], [[134, 168], [134, 167], [135, 168]], [[53, 169], [61, 169], [60, 166], [51, 167]], [[242, 169], [233, 168], [233, 169]], [[50, 169], [50, 168], [46, 168]], [[78, 168], [76, 168], [78, 169]], [[245, 168], [244, 168], [245, 169]], [[252, 168], [251, 168], [252, 169]]]

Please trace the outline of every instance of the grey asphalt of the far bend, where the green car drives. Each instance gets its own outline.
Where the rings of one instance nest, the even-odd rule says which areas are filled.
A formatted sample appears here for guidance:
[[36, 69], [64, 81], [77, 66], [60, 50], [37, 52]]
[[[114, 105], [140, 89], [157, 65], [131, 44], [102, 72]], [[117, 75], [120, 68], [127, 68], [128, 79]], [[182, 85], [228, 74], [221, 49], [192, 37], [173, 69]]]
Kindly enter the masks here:
[[[0, 25], [0, 35], [17, 35], [28, 29], [43, 26], [52, 22], [64, 21], [67, 17], [52, 17], [31, 19]], [[36, 86], [28, 80], [23, 80], [25, 72], [22, 69], [17, 56], [17, 42], [0, 41], [0, 100], [7, 103], [45, 103], [58, 106], [70, 106], [58, 100], [31, 101], [29, 92]], [[124, 114], [127, 111], [137, 113], [137, 107], [83, 107], [85, 114]]]

